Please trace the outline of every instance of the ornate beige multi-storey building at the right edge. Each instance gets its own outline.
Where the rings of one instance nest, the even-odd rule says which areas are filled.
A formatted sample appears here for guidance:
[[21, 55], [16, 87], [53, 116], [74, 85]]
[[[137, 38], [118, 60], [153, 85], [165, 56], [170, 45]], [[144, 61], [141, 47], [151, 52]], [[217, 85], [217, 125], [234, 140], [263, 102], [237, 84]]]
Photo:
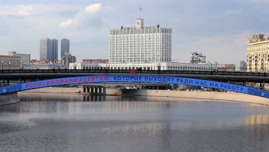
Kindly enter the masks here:
[[247, 72], [269, 72], [269, 37], [252, 35], [247, 44]]

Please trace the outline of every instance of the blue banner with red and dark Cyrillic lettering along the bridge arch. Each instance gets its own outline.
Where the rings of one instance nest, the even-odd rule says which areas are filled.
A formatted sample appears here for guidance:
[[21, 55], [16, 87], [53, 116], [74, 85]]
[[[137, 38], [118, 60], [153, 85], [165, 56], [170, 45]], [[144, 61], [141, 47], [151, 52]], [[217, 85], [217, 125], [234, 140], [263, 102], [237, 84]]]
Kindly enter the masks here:
[[204, 79], [190, 79], [186, 77], [168, 77], [160, 75], [97, 75], [84, 77], [65, 77], [59, 79], [46, 79], [37, 82], [27, 82], [23, 84], [15, 84], [0, 88], [0, 95], [13, 93], [18, 91], [26, 91], [34, 88], [44, 88], [48, 86], [60, 86], [65, 84], [86, 84], [98, 82], [137, 82], [137, 83], [161, 83], [161, 84], [185, 84], [190, 86], [203, 86], [208, 88], [218, 88], [225, 91], [234, 91], [237, 93], [246, 93], [269, 98], [269, 92], [239, 86], [236, 84], [228, 84], [223, 82], [214, 82]]

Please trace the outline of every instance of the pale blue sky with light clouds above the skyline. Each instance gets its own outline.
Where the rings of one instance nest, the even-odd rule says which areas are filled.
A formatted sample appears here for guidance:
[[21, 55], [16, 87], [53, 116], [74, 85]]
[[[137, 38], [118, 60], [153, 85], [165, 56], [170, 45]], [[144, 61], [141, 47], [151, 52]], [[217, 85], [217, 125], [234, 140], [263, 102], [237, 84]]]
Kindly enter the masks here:
[[0, 54], [39, 59], [39, 40], [49, 37], [70, 39], [78, 61], [107, 58], [109, 30], [135, 26], [141, 7], [145, 26], [172, 28], [172, 60], [188, 62], [197, 51], [207, 61], [238, 65], [252, 34], [269, 37], [268, 6], [269, 0], [0, 0]]

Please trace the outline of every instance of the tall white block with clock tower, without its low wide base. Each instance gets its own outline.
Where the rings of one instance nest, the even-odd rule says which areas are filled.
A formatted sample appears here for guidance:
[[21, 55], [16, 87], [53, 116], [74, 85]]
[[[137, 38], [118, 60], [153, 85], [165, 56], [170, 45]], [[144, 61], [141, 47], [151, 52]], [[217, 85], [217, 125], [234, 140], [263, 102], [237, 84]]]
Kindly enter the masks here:
[[171, 61], [172, 28], [143, 26], [137, 19], [135, 27], [110, 30], [110, 63], [152, 63]]

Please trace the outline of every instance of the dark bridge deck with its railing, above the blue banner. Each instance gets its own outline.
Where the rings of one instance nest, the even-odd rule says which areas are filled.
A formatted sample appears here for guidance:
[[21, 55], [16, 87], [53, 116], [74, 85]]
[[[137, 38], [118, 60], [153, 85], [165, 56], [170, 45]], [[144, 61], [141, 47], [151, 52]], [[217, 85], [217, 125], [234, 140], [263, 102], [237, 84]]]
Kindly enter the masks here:
[[[0, 81], [30, 82], [41, 79], [55, 79], [61, 77], [75, 77], [87, 75], [103, 74], [130, 74], [130, 70], [1, 70]], [[244, 72], [224, 72], [224, 71], [199, 71], [199, 70], [135, 70], [134, 75], [166, 75], [177, 77], [190, 77], [197, 79], [210, 79], [218, 82], [253, 82], [260, 83], [261, 86], [269, 83], [269, 73], [244, 73]]]

